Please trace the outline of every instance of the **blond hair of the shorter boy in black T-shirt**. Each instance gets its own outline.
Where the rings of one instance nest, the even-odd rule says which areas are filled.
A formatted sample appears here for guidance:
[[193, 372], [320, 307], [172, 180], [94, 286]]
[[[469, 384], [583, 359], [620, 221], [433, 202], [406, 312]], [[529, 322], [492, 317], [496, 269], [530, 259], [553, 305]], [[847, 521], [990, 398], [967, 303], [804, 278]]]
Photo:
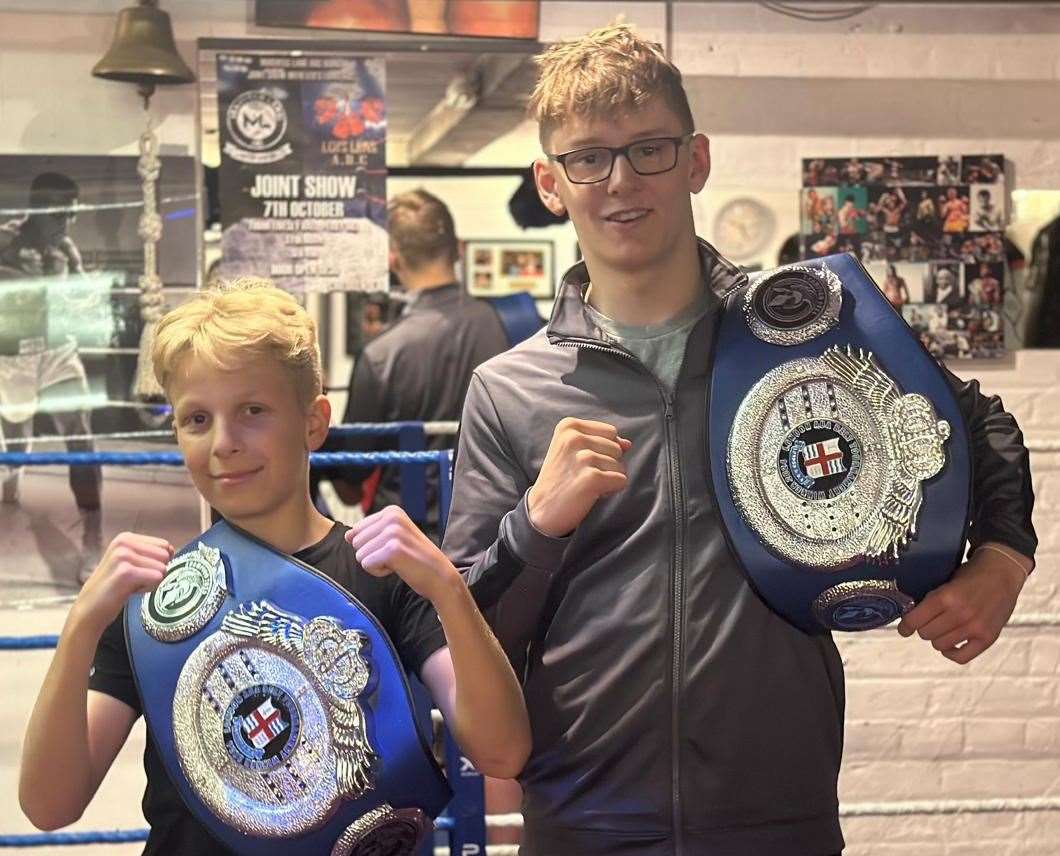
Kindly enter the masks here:
[[263, 278], [215, 281], [167, 313], [151, 353], [162, 389], [187, 354], [222, 369], [271, 357], [290, 372], [305, 406], [323, 389], [317, 325], [292, 295]]

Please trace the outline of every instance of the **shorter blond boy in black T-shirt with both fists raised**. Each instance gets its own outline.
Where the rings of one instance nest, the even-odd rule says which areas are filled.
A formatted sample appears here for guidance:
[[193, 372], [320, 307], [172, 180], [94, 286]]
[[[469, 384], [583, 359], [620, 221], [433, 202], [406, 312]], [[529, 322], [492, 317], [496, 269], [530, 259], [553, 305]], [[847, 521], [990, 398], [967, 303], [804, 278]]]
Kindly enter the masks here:
[[[522, 694], [453, 565], [398, 509], [348, 530], [310, 501], [308, 456], [331, 408], [305, 310], [267, 281], [236, 281], [171, 311], [153, 358], [202, 499], [353, 594], [476, 767], [516, 773], [529, 752]], [[173, 555], [162, 538], [118, 535], [70, 610], [23, 746], [19, 799], [38, 827], [81, 817], [142, 712], [121, 612], [159, 585]], [[144, 767], [144, 852], [225, 852], [181, 802], [151, 739]]]

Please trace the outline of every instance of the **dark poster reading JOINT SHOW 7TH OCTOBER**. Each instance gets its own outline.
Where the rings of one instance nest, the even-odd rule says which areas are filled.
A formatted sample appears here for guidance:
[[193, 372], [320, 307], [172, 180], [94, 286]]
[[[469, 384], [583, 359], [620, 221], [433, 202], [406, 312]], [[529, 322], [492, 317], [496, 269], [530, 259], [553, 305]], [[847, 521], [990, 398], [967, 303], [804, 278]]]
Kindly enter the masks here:
[[223, 277], [386, 290], [385, 63], [217, 56]]

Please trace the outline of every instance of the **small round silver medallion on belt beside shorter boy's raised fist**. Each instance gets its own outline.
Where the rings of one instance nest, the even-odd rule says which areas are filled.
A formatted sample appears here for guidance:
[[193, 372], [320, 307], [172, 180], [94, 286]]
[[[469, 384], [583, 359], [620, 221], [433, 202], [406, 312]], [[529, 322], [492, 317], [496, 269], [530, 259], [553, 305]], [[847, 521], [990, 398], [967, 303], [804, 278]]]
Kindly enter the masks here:
[[220, 551], [199, 541], [166, 565], [158, 588], [140, 602], [140, 621], [160, 642], [179, 642], [210, 622], [226, 593]]

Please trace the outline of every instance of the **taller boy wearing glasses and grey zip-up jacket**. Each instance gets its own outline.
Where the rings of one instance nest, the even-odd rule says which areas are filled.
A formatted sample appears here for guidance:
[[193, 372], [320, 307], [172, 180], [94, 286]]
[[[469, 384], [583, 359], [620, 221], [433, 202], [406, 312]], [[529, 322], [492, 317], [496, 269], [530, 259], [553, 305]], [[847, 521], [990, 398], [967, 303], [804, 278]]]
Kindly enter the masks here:
[[[545, 332], [476, 371], [443, 543], [469, 582], [509, 587], [491, 620], [533, 732], [522, 853], [836, 854], [842, 661], [752, 590], [708, 472], [720, 297], [746, 283], [693, 230], [709, 142], [678, 70], [628, 26], [540, 65], [534, 177], [584, 262]], [[975, 449], [973, 553], [899, 629], [967, 662], [1012, 611], [1036, 539], [1014, 421], [952, 382]]]

